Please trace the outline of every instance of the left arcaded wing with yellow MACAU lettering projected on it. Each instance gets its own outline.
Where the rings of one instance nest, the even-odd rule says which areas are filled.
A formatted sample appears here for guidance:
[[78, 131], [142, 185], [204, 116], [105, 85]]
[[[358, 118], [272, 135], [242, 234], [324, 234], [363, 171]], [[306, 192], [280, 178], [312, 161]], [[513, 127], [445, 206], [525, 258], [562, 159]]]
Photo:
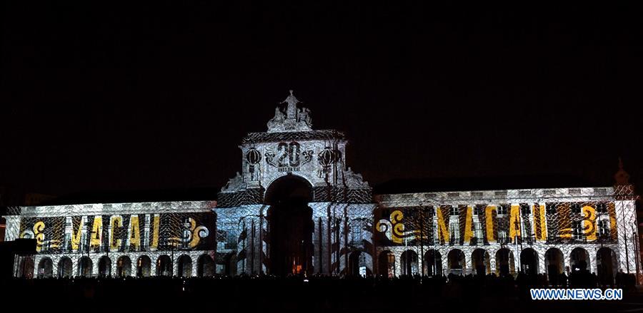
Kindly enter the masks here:
[[36, 277], [196, 276], [204, 265], [214, 267], [214, 206], [188, 201], [21, 207], [8, 216], [7, 235], [36, 239]]

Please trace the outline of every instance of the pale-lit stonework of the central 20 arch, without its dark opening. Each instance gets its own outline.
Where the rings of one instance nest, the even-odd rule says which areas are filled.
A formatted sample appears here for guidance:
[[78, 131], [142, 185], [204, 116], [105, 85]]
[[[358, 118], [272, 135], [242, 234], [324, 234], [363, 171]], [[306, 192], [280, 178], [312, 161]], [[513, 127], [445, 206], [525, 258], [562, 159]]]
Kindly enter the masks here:
[[243, 138], [241, 171], [217, 197], [217, 223], [225, 240], [218, 245], [219, 270], [269, 272], [270, 206], [264, 197], [276, 180], [296, 175], [312, 190], [313, 272], [347, 273], [347, 265], [357, 260], [357, 268], [372, 273], [372, 189], [347, 166], [344, 133], [314, 130], [309, 110], [292, 93], [283, 103], [266, 132]]

